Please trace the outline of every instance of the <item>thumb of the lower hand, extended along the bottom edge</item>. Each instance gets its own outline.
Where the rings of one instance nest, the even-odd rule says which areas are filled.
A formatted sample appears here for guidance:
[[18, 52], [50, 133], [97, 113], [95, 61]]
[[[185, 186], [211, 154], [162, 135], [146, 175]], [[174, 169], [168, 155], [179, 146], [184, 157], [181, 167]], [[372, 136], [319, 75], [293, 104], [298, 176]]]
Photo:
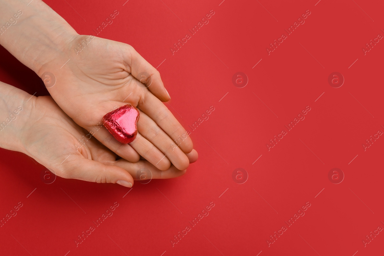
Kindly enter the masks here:
[[[125, 160], [126, 161], [126, 160]], [[129, 162], [126, 161], [128, 164]], [[133, 178], [124, 168], [103, 164], [79, 155], [70, 155], [56, 174], [63, 178], [73, 178], [97, 183], [118, 183], [124, 187], [132, 187]]]

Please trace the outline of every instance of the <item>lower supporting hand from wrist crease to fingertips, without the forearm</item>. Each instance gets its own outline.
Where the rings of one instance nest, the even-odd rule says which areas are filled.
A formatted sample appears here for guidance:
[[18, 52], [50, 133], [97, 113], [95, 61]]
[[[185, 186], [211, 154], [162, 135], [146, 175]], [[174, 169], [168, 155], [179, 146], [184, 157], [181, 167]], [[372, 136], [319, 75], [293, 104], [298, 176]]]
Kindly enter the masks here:
[[[18, 133], [23, 152], [60, 177], [132, 187], [134, 179], [174, 178], [185, 173], [173, 165], [159, 170], [146, 160], [136, 163], [116, 160], [117, 155], [99, 141], [93, 137], [88, 139], [88, 132], [68, 117], [50, 96], [32, 97], [30, 101], [28, 119]], [[137, 175], [143, 168], [151, 175]]]

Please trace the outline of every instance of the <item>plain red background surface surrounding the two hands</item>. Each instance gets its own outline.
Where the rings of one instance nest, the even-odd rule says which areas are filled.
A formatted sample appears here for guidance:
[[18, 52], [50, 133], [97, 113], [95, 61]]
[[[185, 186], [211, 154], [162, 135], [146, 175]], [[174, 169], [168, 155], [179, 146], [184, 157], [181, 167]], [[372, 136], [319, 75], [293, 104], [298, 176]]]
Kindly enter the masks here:
[[[135, 182], [132, 191], [60, 177], [45, 184], [43, 166], [0, 150], [0, 217], [23, 203], [0, 228], [2, 255], [382, 255], [382, 232], [366, 247], [362, 239], [384, 228], [384, 139], [366, 151], [362, 144], [384, 131], [384, 42], [366, 55], [362, 47], [384, 35], [384, 4], [221, 1], [45, 1], [80, 34], [118, 10], [98, 36], [132, 45], [155, 67], [165, 59], [158, 70], [172, 97], [167, 106], [184, 127], [215, 110], [190, 135], [199, 160], [184, 176]], [[209, 23], [172, 55], [210, 10]], [[266, 47], [306, 10], [305, 23], [268, 55]], [[32, 71], [3, 48], [1, 55], [1, 81], [48, 94]], [[232, 83], [236, 72], [247, 75], [244, 88]], [[343, 74], [340, 88], [328, 83], [332, 72]], [[268, 151], [306, 106], [305, 119]], [[245, 183], [232, 179], [236, 168], [246, 170]], [[332, 168], [343, 171], [341, 183], [328, 179]], [[76, 247], [116, 201], [113, 215]], [[305, 215], [268, 247], [306, 202]], [[187, 225], [192, 230], [172, 246]]]

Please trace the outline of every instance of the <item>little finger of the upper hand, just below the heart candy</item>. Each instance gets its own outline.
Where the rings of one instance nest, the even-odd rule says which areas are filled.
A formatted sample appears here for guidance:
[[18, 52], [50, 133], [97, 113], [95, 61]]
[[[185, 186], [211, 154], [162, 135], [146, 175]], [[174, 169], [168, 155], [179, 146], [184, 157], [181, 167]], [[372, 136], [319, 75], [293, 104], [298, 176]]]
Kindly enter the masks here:
[[108, 130], [102, 126], [94, 132], [93, 137], [104, 144], [108, 149], [112, 150], [116, 155], [128, 160], [129, 162], [137, 162], [140, 155], [129, 144], [122, 144], [116, 140]]

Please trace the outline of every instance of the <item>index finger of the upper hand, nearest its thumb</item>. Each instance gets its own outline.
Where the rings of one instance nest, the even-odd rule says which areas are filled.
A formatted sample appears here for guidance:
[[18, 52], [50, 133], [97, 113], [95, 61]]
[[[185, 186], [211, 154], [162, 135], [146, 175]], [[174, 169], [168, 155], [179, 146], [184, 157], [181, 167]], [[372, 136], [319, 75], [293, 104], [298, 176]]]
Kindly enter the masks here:
[[193, 143], [188, 133], [173, 116], [172, 112], [155, 96], [151, 93], [145, 94], [145, 98], [139, 101], [137, 107], [151, 117], [153, 121], [179, 145], [184, 153], [192, 151]]

